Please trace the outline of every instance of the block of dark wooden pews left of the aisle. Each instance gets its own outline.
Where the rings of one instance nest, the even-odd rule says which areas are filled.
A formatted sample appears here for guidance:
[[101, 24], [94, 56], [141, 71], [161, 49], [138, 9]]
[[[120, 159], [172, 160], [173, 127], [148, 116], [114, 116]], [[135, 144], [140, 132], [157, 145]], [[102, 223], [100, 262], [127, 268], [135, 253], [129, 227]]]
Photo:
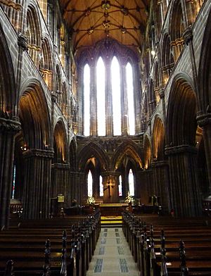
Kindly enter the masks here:
[[23, 220], [0, 232], [0, 276], [85, 276], [101, 232], [101, 213]]

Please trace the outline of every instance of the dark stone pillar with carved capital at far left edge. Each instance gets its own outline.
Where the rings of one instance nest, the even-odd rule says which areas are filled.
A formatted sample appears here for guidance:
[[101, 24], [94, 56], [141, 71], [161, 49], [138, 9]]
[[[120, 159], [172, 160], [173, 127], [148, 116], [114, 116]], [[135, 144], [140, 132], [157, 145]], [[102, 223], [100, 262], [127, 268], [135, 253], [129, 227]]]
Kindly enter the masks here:
[[18, 120], [0, 118], [0, 226], [8, 227], [11, 188], [13, 182], [13, 158], [15, 134], [20, 131]]

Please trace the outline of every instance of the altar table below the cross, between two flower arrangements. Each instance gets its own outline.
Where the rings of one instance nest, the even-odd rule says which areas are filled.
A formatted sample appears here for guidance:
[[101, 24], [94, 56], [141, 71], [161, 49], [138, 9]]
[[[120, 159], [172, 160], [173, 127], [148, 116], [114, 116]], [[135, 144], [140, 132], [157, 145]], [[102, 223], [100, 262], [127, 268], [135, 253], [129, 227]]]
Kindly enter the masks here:
[[122, 212], [128, 208], [128, 203], [100, 203], [101, 215], [122, 215]]

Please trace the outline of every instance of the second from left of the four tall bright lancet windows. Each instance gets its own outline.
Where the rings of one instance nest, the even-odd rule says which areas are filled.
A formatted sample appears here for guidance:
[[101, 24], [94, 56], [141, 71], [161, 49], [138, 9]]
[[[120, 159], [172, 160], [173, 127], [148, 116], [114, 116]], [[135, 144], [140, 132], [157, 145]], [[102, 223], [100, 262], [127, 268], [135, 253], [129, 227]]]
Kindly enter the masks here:
[[96, 66], [96, 94], [97, 94], [97, 122], [98, 136], [106, 135], [106, 94], [105, 94], [105, 65], [103, 59], [98, 58]]

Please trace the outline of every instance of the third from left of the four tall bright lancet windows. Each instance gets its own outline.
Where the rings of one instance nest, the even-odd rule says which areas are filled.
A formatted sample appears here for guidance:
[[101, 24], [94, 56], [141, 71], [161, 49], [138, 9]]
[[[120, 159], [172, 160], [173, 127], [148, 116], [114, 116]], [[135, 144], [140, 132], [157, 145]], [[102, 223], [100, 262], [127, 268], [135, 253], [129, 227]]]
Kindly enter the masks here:
[[120, 90], [120, 64], [114, 56], [111, 63], [111, 83], [113, 102], [113, 134], [121, 135], [121, 90]]

